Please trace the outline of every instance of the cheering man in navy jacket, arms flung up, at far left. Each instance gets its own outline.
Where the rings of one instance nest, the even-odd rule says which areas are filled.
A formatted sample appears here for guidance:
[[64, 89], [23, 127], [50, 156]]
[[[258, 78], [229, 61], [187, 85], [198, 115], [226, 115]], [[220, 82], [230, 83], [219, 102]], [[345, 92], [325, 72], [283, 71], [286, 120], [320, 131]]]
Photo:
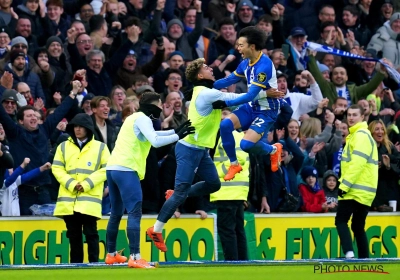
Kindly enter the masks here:
[[[49, 115], [46, 121], [39, 125], [35, 115], [35, 108], [24, 106], [18, 110], [18, 125], [9, 117], [3, 106], [0, 106], [0, 123], [4, 126], [4, 131], [10, 143], [10, 152], [14, 157], [14, 164], [22, 162], [29, 157], [31, 162], [26, 172], [42, 166], [48, 161], [49, 147], [48, 139], [53, 133], [58, 123], [64, 118], [72, 107], [75, 95], [80, 87], [80, 82], [73, 82], [73, 90], [69, 97]], [[16, 168], [17, 166], [15, 166]], [[50, 203], [50, 195], [46, 187], [50, 183], [48, 172], [42, 176], [30, 180], [19, 186], [19, 205], [21, 215], [31, 215], [29, 207], [33, 204]]]

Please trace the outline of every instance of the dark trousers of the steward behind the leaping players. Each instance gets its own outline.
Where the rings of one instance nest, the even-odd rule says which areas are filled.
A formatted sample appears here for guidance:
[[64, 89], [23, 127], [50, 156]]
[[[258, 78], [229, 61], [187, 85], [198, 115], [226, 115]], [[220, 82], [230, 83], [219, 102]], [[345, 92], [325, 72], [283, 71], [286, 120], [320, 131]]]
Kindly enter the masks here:
[[225, 260], [248, 260], [242, 200], [217, 202], [217, 229]]

